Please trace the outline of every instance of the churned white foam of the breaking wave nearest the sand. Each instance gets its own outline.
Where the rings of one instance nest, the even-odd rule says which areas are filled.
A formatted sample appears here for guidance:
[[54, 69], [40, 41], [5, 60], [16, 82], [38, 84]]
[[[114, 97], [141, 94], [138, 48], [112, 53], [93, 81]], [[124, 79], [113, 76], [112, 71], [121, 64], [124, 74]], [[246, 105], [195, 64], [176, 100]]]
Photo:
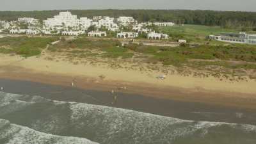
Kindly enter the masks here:
[[[12, 100], [15, 100], [13, 97]], [[30, 101], [22, 101], [20, 96], [17, 96], [17, 99], [19, 99], [17, 100], [18, 106], [23, 103], [31, 104]], [[37, 97], [36, 99], [31, 97], [30, 100], [32, 100], [33, 103], [42, 99], [40, 97]], [[20, 100], [22, 102], [20, 102]], [[102, 136], [104, 138], [100, 138], [102, 141], [116, 140], [118, 134], [130, 132], [129, 137], [132, 138], [133, 143], [141, 143], [142, 140], [143, 143], [152, 143], [156, 140], [156, 137], [163, 140], [163, 143], [171, 143], [172, 140], [195, 134], [195, 132], [199, 132], [200, 136], [205, 136], [205, 134], [209, 132], [209, 128], [218, 128], [222, 125], [228, 125], [230, 128], [241, 129], [243, 131], [256, 131], [256, 126], [254, 125], [242, 125], [241, 127], [239, 124], [228, 124], [223, 122], [194, 122], [191, 120], [180, 120], [179, 118], [141, 113], [128, 109], [110, 108], [107, 106], [97, 106], [77, 102], [44, 100], [53, 102], [55, 106], [61, 104], [70, 106], [70, 125], [73, 125], [74, 129], [86, 129], [88, 125], [93, 125], [95, 127], [99, 127], [100, 125], [99, 129], [94, 129], [93, 131], [97, 131], [99, 136], [104, 135]], [[5, 102], [8, 102], [8, 100], [5, 100]], [[52, 129], [52, 127], [58, 123], [58, 120], [60, 120], [60, 118], [56, 116], [51, 118], [51, 122], [37, 120], [31, 125], [33, 129], [44, 129], [44, 132], [55, 132], [58, 129]], [[45, 127], [38, 127], [38, 125], [45, 125]]]

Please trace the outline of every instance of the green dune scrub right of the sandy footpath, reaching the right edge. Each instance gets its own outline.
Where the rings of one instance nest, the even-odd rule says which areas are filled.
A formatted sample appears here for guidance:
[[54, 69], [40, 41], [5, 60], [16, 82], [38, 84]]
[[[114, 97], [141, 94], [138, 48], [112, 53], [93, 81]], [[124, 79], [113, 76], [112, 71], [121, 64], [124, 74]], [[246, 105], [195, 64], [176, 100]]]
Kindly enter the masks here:
[[[159, 47], [128, 44], [122, 47], [117, 40], [78, 38], [51, 45], [51, 52], [65, 52], [78, 58], [132, 58], [145, 63], [162, 63], [175, 67], [206, 67], [256, 69], [256, 47], [253, 45], [180, 45]], [[191, 61], [193, 61], [191, 63]], [[232, 64], [230, 64], [232, 63]]]

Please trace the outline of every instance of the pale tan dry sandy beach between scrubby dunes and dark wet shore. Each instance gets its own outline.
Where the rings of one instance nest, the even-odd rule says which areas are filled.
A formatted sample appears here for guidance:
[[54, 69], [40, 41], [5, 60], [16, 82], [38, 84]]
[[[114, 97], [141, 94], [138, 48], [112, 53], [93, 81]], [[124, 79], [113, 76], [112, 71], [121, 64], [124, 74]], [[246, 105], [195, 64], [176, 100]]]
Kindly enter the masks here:
[[115, 90], [161, 99], [256, 109], [256, 81], [253, 79], [220, 81], [211, 76], [200, 78], [180, 74], [157, 79], [161, 74], [158, 71], [141, 72], [108, 65], [45, 60], [44, 56], [0, 56], [0, 78], [61, 86], [71, 86], [73, 81], [77, 88], [88, 90]]

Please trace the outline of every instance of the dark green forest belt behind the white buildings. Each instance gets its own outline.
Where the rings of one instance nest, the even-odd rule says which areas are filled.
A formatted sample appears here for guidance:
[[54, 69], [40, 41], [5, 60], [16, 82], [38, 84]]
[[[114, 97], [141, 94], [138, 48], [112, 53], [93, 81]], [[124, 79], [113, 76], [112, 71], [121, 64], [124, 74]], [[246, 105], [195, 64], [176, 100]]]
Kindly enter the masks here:
[[[61, 10], [65, 11], [65, 10]], [[33, 12], [0, 12], [0, 20], [16, 20], [18, 17], [47, 19], [60, 10]], [[132, 16], [139, 22], [172, 21], [177, 24], [200, 24], [206, 26], [253, 27], [256, 26], [256, 12], [220, 12], [205, 10], [68, 10], [78, 17], [96, 15], [118, 17]]]

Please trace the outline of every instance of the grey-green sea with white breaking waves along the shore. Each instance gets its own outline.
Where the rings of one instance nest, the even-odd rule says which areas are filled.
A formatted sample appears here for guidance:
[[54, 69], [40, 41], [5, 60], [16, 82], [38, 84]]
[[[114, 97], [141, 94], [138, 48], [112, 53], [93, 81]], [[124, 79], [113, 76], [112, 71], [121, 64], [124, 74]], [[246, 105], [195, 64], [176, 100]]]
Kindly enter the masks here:
[[255, 144], [256, 126], [0, 92], [0, 143]]

